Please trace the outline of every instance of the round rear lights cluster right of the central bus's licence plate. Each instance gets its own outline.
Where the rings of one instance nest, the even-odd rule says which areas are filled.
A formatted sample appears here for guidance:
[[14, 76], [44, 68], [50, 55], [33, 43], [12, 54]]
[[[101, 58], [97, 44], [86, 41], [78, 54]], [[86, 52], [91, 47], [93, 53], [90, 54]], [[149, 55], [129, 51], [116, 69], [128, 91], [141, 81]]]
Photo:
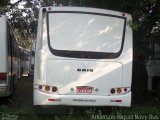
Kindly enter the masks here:
[[110, 90], [111, 94], [125, 94], [130, 91], [130, 88], [122, 87], [122, 88], [112, 88]]

